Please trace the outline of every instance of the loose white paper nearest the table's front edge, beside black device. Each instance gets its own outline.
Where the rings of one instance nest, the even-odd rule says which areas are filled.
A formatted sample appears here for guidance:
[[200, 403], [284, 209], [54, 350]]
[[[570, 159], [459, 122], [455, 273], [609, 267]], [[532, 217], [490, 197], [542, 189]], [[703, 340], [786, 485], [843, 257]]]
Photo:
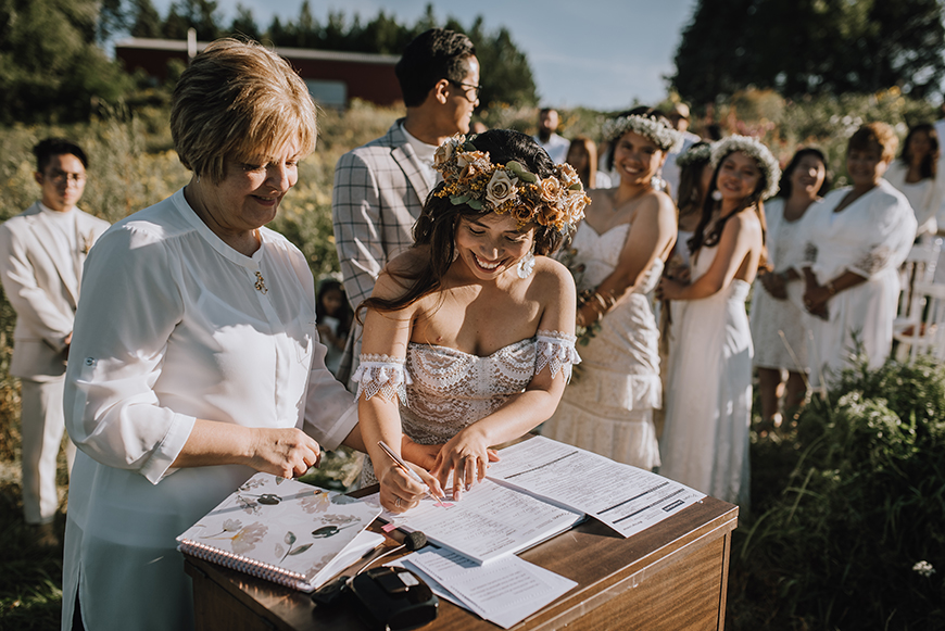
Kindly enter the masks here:
[[508, 629], [578, 583], [512, 555], [480, 566], [444, 548], [427, 547], [399, 559], [439, 595]]

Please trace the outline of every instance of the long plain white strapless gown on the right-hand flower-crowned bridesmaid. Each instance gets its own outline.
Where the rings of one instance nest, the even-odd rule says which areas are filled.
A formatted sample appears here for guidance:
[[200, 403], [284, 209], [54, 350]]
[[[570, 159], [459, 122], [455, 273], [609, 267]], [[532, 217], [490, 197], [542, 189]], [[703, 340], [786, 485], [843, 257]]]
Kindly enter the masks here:
[[[717, 250], [700, 251], [693, 279], [708, 270]], [[745, 314], [749, 288], [733, 280], [714, 295], [689, 301], [675, 341], [659, 468], [662, 476], [743, 509], [748, 508], [754, 352]]]

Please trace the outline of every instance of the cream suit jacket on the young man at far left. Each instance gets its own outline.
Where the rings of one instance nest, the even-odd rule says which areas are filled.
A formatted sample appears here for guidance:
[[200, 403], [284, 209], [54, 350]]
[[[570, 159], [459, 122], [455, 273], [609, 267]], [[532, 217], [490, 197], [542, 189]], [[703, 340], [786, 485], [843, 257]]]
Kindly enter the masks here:
[[43, 380], [65, 373], [81, 266], [109, 223], [76, 209], [79, 251], [68, 256], [39, 203], [0, 225], [0, 280], [16, 312], [10, 374]]

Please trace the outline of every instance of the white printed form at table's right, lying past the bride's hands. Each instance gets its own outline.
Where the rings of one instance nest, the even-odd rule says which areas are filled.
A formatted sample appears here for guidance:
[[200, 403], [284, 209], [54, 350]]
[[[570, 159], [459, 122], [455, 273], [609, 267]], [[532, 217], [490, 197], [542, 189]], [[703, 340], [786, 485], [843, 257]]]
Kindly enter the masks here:
[[499, 452], [489, 479], [595, 517], [630, 537], [705, 497], [668, 478], [536, 437]]

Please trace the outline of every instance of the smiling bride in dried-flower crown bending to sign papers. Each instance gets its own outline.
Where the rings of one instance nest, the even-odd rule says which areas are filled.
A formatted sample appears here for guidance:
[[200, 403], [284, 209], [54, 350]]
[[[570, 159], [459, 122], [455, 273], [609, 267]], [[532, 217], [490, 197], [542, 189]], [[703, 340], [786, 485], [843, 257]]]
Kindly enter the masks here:
[[518, 438], [554, 412], [575, 352], [575, 283], [546, 255], [588, 203], [567, 164], [554, 165], [528, 136], [507, 129], [437, 150], [433, 189], [415, 244], [381, 274], [366, 311], [358, 414], [380, 501], [401, 513], [426, 489], [378, 446], [401, 431], [445, 443], [430, 471], [439, 495], [454, 474], [458, 500], [486, 474], [489, 447]]

